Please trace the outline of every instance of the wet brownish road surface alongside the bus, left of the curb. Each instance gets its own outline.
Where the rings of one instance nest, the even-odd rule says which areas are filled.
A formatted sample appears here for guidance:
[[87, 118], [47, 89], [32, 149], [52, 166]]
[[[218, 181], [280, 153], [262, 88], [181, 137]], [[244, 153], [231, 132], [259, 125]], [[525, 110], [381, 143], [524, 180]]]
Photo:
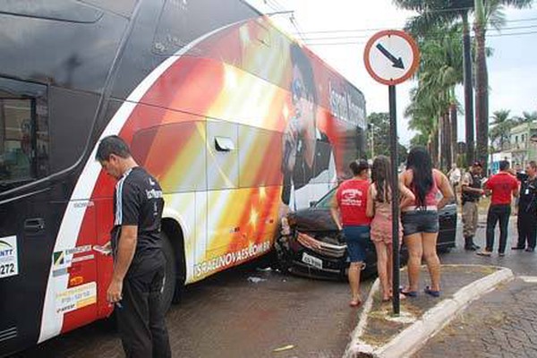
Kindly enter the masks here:
[[[365, 294], [371, 280], [366, 282]], [[230, 270], [189, 286], [166, 319], [174, 357], [341, 357], [358, 322], [348, 285]], [[293, 349], [274, 353], [286, 345]], [[98, 322], [18, 356], [123, 357], [113, 325]]]

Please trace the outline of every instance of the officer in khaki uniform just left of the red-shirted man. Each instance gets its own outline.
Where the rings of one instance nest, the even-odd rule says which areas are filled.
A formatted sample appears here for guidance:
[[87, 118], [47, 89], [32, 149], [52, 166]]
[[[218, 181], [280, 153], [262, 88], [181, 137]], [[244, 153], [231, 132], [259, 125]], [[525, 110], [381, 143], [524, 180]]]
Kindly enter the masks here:
[[465, 236], [465, 250], [476, 251], [480, 247], [473, 243], [473, 236], [477, 230], [479, 217], [479, 200], [482, 190], [482, 171], [480, 162], [475, 162], [466, 172], [461, 182], [461, 202], [463, 204], [463, 234]]

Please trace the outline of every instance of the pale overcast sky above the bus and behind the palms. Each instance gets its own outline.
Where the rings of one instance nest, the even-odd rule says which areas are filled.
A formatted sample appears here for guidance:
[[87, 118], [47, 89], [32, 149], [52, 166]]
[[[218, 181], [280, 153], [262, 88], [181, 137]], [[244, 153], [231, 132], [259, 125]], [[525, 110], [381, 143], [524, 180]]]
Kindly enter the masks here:
[[[366, 71], [363, 48], [379, 30], [402, 30], [407, 19], [416, 13], [398, 9], [392, 0], [248, 0], [248, 3], [263, 13], [293, 11], [292, 14], [274, 14], [271, 18], [282, 30], [304, 38], [316, 55], [362, 90], [368, 114], [388, 112], [388, 86], [374, 81]], [[507, 109], [515, 116], [537, 110], [537, 2], [529, 9], [506, 7], [504, 14], [507, 20], [504, 30], [487, 32], [487, 46], [493, 49], [487, 63], [489, 113]], [[290, 21], [291, 17], [294, 21]], [[342, 36], [347, 38], [327, 39]], [[334, 42], [346, 44], [326, 45]], [[408, 145], [414, 135], [408, 129], [408, 118], [403, 115], [413, 86], [413, 80], [396, 86], [397, 131], [404, 145]], [[463, 93], [462, 86], [458, 86], [456, 94], [462, 107]], [[458, 140], [464, 141], [464, 114], [458, 119]]]

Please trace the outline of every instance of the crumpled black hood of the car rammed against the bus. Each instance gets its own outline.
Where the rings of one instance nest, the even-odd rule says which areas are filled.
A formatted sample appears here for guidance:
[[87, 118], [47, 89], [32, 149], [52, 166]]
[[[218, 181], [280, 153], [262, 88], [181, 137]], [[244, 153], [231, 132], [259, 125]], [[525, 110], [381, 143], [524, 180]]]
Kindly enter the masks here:
[[313, 234], [326, 243], [338, 243], [341, 234], [330, 215], [329, 209], [303, 209], [287, 215], [292, 227], [301, 233]]

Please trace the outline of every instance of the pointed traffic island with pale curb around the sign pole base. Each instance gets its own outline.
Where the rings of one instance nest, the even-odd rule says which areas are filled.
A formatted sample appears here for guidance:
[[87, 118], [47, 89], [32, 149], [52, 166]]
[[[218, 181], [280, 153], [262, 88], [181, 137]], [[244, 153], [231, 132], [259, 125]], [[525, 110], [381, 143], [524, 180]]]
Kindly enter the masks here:
[[[433, 298], [419, 292], [416, 298], [401, 301], [401, 315], [391, 316], [391, 303], [381, 303], [379, 281], [371, 288], [364, 303], [360, 322], [347, 346], [345, 357], [405, 357], [411, 356], [451, 320], [463, 312], [469, 303], [490, 292], [513, 277], [508, 268], [481, 265], [442, 265], [442, 294]], [[429, 285], [429, 275], [422, 267], [421, 287]], [[405, 269], [401, 271], [402, 286], [406, 284]], [[537, 301], [537, 298], [535, 299]], [[444, 353], [442, 357], [453, 356]], [[435, 355], [436, 356], [436, 355]]]

